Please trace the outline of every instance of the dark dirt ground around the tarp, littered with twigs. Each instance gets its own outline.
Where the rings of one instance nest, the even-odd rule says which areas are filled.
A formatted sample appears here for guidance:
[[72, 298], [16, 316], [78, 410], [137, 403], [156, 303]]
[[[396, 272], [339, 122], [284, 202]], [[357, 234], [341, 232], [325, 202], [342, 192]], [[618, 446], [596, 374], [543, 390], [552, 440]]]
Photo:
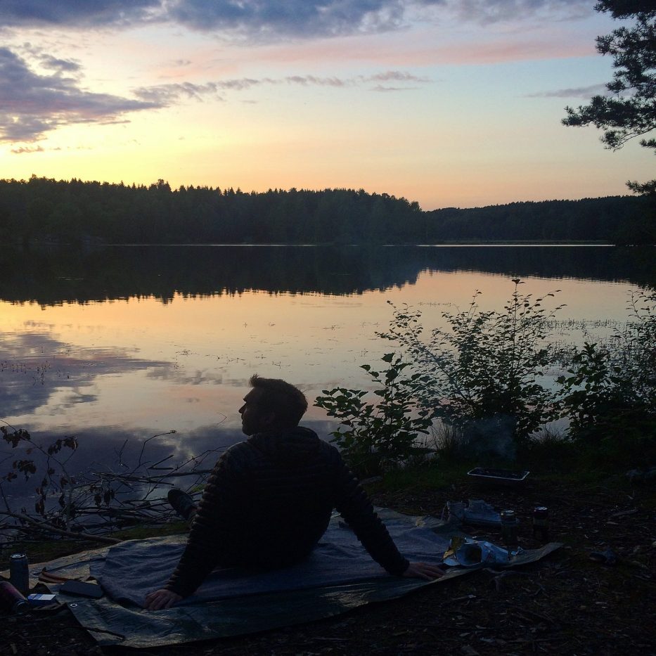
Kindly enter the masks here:
[[[520, 544], [539, 546], [529, 517], [548, 506], [550, 539], [565, 546], [508, 572], [481, 570], [333, 619], [241, 638], [148, 650], [99, 648], [67, 608], [0, 617], [0, 654], [18, 656], [454, 656], [558, 653], [656, 655], [656, 484], [527, 480], [515, 489], [463, 482], [373, 494], [380, 506], [439, 515], [447, 500], [484, 499], [519, 515]], [[498, 532], [467, 529], [499, 541]], [[610, 548], [614, 565], [592, 560]]]

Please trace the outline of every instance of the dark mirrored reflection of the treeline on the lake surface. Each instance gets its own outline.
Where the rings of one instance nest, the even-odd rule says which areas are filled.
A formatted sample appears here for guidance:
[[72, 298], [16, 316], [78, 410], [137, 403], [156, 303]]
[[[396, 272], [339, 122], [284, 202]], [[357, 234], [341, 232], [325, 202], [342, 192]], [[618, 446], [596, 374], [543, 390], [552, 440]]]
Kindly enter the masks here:
[[0, 298], [39, 304], [153, 296], [361, 294], [414, 284], [421, 271], [579, 278], [651, 285], [654, 247], [221, 245], [41, 247], [0, 252]]

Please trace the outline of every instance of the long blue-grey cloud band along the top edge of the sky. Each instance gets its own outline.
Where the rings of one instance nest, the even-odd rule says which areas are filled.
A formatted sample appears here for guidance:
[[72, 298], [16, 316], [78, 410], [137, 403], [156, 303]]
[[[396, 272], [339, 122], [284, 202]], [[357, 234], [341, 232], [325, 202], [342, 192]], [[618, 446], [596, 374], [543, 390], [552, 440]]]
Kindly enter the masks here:
[[591, 0], [2, 0], [0, 27], [169, 22], [243, 41], [276, 41], [396, 30], [414, 10], [435, 8], [478, 22], [592, 11]]

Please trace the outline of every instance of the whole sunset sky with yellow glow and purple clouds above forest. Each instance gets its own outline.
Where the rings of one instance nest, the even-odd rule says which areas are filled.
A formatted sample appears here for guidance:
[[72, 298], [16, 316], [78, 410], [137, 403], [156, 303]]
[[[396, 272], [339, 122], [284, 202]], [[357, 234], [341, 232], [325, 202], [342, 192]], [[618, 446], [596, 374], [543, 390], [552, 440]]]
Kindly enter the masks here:
[[628, 193], [594, 0], [0, 0], [0, 178], [364, 188], [424, 210]]

